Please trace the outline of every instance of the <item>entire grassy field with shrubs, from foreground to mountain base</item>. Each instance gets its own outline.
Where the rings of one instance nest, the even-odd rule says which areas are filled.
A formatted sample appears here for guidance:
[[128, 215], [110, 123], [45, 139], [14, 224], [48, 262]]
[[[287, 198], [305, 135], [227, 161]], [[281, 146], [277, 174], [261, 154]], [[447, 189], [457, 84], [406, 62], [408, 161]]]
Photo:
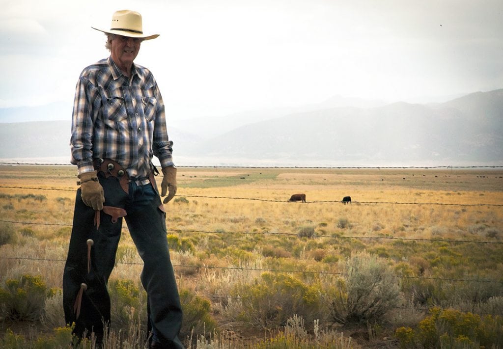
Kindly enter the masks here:
[[[75, 175], [0, 166], [0, 346], [68, 335]], [[307, 202], [287, 202], [296, 193]], [[501, 347], [502, 204], [501, 169], [181, 167], [166, 225], [182, 336], [198, 348]], [[140, 272], [124, 227], [108, 347], [144, 347]]]

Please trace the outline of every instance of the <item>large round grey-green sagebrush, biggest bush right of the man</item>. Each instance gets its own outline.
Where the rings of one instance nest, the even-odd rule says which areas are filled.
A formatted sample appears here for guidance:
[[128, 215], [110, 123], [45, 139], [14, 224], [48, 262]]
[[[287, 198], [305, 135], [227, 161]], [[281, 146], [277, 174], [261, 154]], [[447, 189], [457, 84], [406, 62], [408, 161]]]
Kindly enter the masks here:
[[343, 323], [382, 323], [385, 315], [399, 304], [398, 279], [384, 259], [366, 252], [346, 263], [340, 299], [333, 300], [334, 318]]

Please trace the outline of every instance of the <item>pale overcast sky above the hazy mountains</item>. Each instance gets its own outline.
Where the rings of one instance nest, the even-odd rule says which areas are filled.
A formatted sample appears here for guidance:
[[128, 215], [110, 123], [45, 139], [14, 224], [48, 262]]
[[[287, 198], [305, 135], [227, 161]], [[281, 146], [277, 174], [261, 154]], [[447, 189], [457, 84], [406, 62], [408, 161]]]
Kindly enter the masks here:
[[[172, 119], [322, 102], [424, 102], [503, 88], [501, 0], [0, 0], [0, 108], [64, 101], [143, 16], [135, 62]], [[68, 119], [70, 115], [68, 116]]]

